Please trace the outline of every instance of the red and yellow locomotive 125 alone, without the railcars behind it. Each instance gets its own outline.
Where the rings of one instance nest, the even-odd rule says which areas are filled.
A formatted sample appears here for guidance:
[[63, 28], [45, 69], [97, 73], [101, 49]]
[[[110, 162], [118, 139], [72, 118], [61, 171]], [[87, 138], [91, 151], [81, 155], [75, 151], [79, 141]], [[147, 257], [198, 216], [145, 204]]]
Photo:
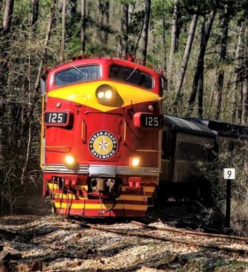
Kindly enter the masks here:
[[59, 214], [142, 216], [159, 182], [162, 73], [77, 57], [42, 80], [43, 196]]

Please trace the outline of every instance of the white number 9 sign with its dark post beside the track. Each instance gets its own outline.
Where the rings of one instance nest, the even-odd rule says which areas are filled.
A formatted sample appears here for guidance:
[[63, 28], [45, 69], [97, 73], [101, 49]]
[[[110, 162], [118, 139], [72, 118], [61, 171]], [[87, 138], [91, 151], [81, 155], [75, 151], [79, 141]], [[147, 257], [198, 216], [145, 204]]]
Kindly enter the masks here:
[[224, 179], [227, 181], [226, 227], [230, 228], [231, 217], [231, 180], [235, 180], [235, 168], [224, 168]]

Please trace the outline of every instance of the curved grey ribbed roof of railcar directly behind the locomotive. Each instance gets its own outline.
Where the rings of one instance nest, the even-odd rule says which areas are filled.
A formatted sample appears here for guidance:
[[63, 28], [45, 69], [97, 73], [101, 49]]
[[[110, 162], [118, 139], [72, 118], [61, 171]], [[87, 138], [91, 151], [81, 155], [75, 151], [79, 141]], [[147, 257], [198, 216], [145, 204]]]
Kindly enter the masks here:
[[172, 131], [182, 132], [190, 135], [216, 137], [216, 133], [206, 126], [197, 122], [187, 120], [172, 115], [164, 115], [165, 126], [169, 127]]

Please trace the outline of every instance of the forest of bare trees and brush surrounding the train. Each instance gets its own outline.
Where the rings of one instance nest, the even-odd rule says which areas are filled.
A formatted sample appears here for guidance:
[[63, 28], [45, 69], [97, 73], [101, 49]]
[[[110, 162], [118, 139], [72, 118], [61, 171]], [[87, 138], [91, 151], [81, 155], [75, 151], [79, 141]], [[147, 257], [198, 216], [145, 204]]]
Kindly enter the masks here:
[[[134, 54], [163, 69], [169, 114], [248, 124], [248, 0], [0, 0], [0, 214], [41, 186], [41, 74], [82, 54]], [[243, 230], [247, 157], [244, 146], [218, 162], [238, 170]]]

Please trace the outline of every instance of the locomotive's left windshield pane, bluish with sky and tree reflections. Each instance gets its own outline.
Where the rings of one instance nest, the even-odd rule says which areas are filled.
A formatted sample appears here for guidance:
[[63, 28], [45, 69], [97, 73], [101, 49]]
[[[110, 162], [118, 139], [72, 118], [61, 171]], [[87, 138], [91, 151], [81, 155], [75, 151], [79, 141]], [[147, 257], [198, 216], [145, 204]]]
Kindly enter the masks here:
[[96, 80], [100, 77], [100, 67], [98, 65], [81, 66], [69, 68], [58, 72], [55, 76], [55, 84], [63, 86], [80, 81]]

